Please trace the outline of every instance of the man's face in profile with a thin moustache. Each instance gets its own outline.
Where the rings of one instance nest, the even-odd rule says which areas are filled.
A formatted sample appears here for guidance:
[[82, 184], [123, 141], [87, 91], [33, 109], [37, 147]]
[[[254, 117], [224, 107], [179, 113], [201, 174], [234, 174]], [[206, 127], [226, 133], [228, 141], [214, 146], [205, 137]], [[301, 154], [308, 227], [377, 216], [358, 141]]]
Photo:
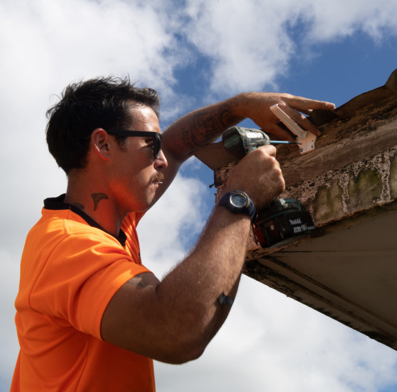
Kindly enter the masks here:
[[[148, 106], [130, 108], [133, 123], [126, 129], [160, 133], [155, 112]], [[152, 137], [127, 137], [122, 148], [113, 146], [108, 173], [110, 190], [120, 213], [147, 210], [155, 202], [167, 161], [161, 152], [153, 154]]]

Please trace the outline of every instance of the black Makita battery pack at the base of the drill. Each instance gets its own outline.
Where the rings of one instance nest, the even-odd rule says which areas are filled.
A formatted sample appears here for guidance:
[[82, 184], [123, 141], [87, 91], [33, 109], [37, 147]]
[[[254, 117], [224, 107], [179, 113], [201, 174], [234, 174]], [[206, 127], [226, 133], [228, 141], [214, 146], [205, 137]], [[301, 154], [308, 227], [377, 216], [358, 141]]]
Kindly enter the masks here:
[[315, 231], [309, 211], [296, 199], [275, 199], [258, 213], [253, 233], [262, 248], [276, 248]]

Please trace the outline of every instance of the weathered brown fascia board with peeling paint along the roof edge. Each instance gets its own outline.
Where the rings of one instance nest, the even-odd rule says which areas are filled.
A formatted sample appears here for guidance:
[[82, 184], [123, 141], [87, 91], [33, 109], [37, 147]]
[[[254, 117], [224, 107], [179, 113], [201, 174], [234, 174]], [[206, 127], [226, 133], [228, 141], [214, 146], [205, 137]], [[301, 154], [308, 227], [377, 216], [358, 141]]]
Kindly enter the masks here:
[[[287, 186], [281, 197], [298, 199], [318, 227], [396, 199], [397, 95], [333, 120], [320, 130], [323, 135], [311, 153], [300, 155], [295, 146], [278, 147]], [[231, 160], [214, 171], [218, 192], [236, 164]], [[273, 252], [252, 239], [247, 259]]]

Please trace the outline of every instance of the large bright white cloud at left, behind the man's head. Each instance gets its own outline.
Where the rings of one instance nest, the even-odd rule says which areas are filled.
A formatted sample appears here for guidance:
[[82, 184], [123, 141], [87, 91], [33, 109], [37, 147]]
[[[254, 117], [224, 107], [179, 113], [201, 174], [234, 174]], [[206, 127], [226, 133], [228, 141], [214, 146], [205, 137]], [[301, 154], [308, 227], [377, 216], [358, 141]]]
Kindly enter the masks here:
[[[166, 19], [144, 2], [4, 1], [0, 15], [1, 136], [7, 146], [0, 157], [7, 190], [1, 212], [16, 238], [37, 219], [42, 199], [65, 189], [45, 143], [45, 112], [57, 101], [52, 95], [81, 78], [129, 72], [168, 97], [174, 65], [172, 48], [163, 56], [171, 43]], [[10, 205], [19, 206], [17, 215]]]

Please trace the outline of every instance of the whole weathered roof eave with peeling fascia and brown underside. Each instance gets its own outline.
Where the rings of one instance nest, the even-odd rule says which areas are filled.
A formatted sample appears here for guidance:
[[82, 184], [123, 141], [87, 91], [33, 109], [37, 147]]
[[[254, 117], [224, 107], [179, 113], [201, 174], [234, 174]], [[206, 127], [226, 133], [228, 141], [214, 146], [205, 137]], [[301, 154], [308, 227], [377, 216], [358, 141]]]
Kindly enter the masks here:
[[[372, 97], [372, 98], [371, 98]], [[252, 235], [244, 273], [397, 349], [397, 75], [317, 121], [316, 149], [278, 147], [287, 189], [311, 212], [312, 237], [264, 249]], [[316, 116], [315, 116], [316, 117]], [[218, 194], [233, 157], [199, 153]]]

